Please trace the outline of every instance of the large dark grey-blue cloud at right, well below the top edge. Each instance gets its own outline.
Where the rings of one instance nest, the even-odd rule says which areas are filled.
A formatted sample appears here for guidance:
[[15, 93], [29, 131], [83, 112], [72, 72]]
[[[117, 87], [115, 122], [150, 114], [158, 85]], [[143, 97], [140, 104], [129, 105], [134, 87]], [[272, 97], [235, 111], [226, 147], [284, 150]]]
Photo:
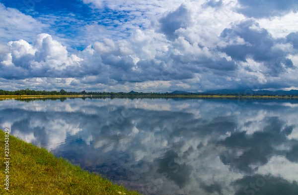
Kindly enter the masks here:
[[289, 51], [278, 46], [283, 42], [274, 39], [254, 19], [233, 24], [231, 28], [224, 29], [221, 37], [229, 44], [220, 49], [233, 60], [246, 62], [247, 58], [252, 58], [256, 62], [263, 62], [269, 69], [268, 74], [274, 77], [287, 68], [294, 68], [292, 60], [286, 57]]

